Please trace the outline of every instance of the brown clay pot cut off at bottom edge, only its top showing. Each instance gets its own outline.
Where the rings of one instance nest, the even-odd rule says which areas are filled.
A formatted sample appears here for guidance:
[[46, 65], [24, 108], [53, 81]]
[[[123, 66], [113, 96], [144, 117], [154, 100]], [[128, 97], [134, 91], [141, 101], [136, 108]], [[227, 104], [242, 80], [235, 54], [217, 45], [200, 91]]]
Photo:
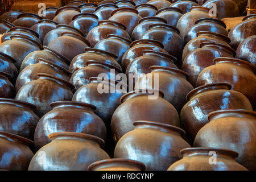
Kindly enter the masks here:
[[145, 165], [137, 160], [129, 159], [105, 159], [94, 162], [88, 167], [88, 171], [144, 171]]

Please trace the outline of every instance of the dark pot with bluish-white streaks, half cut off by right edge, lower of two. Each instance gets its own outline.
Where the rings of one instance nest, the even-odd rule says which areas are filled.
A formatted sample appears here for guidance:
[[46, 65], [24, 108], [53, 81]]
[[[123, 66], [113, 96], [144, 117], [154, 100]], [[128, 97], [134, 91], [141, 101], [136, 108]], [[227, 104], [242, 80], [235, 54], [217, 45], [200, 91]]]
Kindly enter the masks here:
[[256, 35], [244, 39], [237, 47], [238, 59], [248, 61], [256, 66]]

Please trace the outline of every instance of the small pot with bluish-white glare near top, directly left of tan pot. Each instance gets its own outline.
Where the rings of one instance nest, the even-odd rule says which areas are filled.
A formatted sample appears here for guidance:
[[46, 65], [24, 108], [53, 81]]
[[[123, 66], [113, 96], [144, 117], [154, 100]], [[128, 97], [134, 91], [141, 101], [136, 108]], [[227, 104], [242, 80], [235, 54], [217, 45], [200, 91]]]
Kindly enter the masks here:
[[182, 11], [176, 7], [166, 7], [156, 12], [156, 17], [165, 19], [167, 24], [174, 27], [182, 15]]

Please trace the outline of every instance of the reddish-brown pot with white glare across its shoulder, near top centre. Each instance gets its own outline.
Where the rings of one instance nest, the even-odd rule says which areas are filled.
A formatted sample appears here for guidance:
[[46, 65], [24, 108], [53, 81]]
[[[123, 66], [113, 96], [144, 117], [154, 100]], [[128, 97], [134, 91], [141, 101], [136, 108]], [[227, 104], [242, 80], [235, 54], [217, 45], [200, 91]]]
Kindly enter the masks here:
[[109, 20], [122, 23], [126, 27], [126, 32], [131, 36], [134, 28], [139, 24], [141, 16], [138, 10], [131, 7], [121, 7], [112, 11]]

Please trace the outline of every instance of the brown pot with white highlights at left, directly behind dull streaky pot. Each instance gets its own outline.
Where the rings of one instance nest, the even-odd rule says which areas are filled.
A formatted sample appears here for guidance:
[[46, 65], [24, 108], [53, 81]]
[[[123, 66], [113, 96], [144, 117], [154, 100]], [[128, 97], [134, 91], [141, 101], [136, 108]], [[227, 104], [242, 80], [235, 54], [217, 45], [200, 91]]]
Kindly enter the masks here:
[[67, 69], [62, 68], [51, 61], [39, 58], [38, 63], [29, 65], [19, 73], [15, 85], [16, 92], [28, 82], [38, 79], [38, 73], [47, 73], [67, 81], [69, 81], [69, 75], [71, 75], [71, 72]]

